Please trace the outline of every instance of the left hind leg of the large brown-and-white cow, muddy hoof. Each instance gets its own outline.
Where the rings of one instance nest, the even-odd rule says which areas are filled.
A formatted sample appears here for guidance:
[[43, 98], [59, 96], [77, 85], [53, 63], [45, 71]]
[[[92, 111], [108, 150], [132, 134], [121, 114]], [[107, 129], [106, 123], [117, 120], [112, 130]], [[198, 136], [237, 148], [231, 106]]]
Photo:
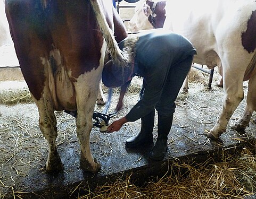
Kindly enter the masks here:
[[44, 96], [40, 100], [35, 100], [39, 111], [39, 127], [48, 141], [49, 151], [46, 161], [48, 172], [58, 171], [63, 168], [59, 153], [56, 149], [57, 127], [51, 97]]

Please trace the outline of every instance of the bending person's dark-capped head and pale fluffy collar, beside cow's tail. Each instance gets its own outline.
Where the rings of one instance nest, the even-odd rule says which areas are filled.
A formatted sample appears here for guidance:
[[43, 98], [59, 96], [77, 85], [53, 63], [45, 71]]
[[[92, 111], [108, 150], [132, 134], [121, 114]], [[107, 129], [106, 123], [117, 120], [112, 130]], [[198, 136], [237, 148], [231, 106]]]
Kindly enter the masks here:
[[109, 60], [104, 65], [102, 72], [102, 82], [109, 88], [117, 88], [130, 81], [134, 73], [134, 55], [135, 44], [138, 38], [126, 38], [119, 43], [121, 50], [126, 51], [130, 57], [130, 63], [126, 66], [115, 64], [113, 60]]

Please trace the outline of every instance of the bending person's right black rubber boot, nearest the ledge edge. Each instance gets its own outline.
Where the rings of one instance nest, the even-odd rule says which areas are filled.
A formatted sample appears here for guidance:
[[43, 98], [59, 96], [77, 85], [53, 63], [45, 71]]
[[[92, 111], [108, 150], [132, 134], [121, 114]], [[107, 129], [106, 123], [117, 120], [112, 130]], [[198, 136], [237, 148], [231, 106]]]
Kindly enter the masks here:
[[171, 130], [172, 118], [159, 118], [158, 121], [158, 140], [156, 140], [155, 146], [151, 151], [150, 158], [152, 160], [163, 160], [167, 152], [167, 140], [168, 134]]

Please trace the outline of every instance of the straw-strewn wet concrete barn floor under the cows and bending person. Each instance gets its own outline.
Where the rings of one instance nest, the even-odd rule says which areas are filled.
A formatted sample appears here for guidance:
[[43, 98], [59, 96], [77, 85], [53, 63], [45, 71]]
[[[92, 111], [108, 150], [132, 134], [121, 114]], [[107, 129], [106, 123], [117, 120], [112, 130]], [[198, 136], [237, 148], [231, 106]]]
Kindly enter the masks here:
[[[217, 159], [229, 153], [239, 153], [245, 147], [255, 148], [253, 122], [243, 133], [230, 128], [242, 114], [245, 100], [230, 119], [220, 142], [210, 141], [205, 136], [220, 113], [221, 93], [222, 89], [217, 86], [212, 90], [202, 87], [195, 91], [192, 85], [188, 95], [178, 97], [168, 153], [163, 161], [148, 158], [153, 146], [139, 150], [125, 148], [125, 140], [139, 132], [140, 121], [127, 124], [112, 134], [100, 133], [93, 128], [90, 146], [94, 158], [101, 163], [97, 174], [83, 172], [79, 168], [80, 149], [74, 118], [56, 112], [59, 131], [56, 143], [64, 170], [58, 174], [47, 174], [44, 170], [47, 142], [38, 127], [35, 104], [0, 105], [0, 198], [13, 198], [14, 193], [20, 198], [78, 198], [78, 195], [86, 194], [85, 190], [93, 191], [96, 185], [104, 185], [107, 181], [130, 176], [131, 180], [142, 185], [148, 178], [170, 172], [175, 162], [201, 163], [209, 157]], [[117, 97], [115, 93], [115, 101]], [[126, 107], [116, 117], [125, 115], [137, 98], [137, 93], [129, 93], [125, 98]], [[157, 126], [154, 128], [154, 141], [156, 129]]]

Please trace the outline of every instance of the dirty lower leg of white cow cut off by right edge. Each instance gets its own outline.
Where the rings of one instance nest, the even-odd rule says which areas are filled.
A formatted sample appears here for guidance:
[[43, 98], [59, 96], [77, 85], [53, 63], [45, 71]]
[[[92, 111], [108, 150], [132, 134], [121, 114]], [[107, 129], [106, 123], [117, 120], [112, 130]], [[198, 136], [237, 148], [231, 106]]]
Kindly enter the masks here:
[[256, 76], [253, 76], [248, 83], [248, 92], [246, 99], [246, 107], [243, 115], [232, 126], [236, 131], [244, 131], [249, 126], [253, 111], [256, 110]]

